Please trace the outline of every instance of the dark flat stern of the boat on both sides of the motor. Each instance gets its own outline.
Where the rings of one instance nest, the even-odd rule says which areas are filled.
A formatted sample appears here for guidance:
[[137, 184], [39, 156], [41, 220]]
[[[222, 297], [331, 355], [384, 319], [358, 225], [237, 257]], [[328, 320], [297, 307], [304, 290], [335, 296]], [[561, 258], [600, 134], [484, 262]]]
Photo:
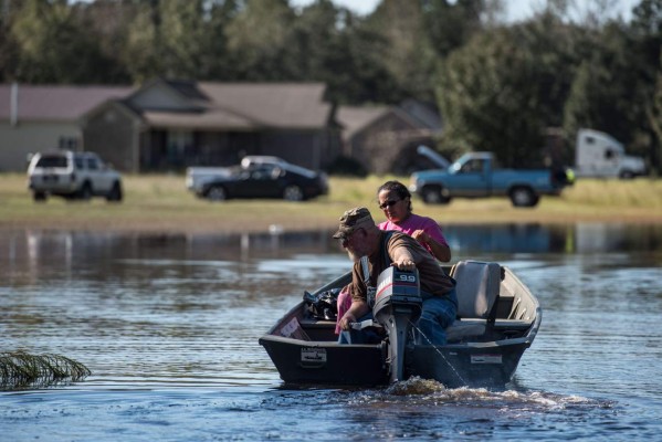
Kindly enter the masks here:
[[[519, 340], [519, 339], [517, 339]], [[339, 345], [265, 336], [266, 349], [286, 383], [377, 386], [389, 383], [385, 345]], [[502, 387], [513, 379], [528, 341], [416, 346], [406, 355], [406, 377], [445, 387]]]

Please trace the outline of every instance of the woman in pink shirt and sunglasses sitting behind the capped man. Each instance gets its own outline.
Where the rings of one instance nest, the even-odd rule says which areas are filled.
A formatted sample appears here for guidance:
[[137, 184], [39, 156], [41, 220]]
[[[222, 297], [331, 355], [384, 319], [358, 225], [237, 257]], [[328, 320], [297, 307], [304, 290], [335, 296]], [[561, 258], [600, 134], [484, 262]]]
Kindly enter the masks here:
[[[411, 208], [411, 193], [400, 181], [387, 181], [377, 189], [377, 202], [387, 220], [379, 223], [380, 230], [395, 230], [407, 233], [416, 239], [441, 262], [451, 261], [449, 246], [441, 227], [432, 218], [413, 213]], [[340, 333], [340, 318], [351, 305], [349, 288], [344, 287], [338, 294], [336, 335]]]

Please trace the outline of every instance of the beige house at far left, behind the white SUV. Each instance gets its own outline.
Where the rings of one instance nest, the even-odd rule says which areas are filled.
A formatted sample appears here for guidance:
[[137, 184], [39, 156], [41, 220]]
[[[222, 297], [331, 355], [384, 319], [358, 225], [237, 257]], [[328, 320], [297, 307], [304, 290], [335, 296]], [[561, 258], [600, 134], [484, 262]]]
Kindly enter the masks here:
[[25, 171], [38, 151], [82, 149], [81, 117], [125, 86], [24, 86], [0, 84], [0, 171]]

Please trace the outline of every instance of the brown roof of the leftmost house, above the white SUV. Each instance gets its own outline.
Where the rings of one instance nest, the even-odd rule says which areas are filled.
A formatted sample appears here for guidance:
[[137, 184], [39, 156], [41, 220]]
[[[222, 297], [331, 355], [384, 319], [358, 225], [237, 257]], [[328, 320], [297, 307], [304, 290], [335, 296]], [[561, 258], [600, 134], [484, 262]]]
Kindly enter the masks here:
[[[0, 120], [11, 117], [12, 85], [0, 85]], [[107, 99], [130, 94], [129, 86], [18, 85], [20, 120], [76, 120]]]

